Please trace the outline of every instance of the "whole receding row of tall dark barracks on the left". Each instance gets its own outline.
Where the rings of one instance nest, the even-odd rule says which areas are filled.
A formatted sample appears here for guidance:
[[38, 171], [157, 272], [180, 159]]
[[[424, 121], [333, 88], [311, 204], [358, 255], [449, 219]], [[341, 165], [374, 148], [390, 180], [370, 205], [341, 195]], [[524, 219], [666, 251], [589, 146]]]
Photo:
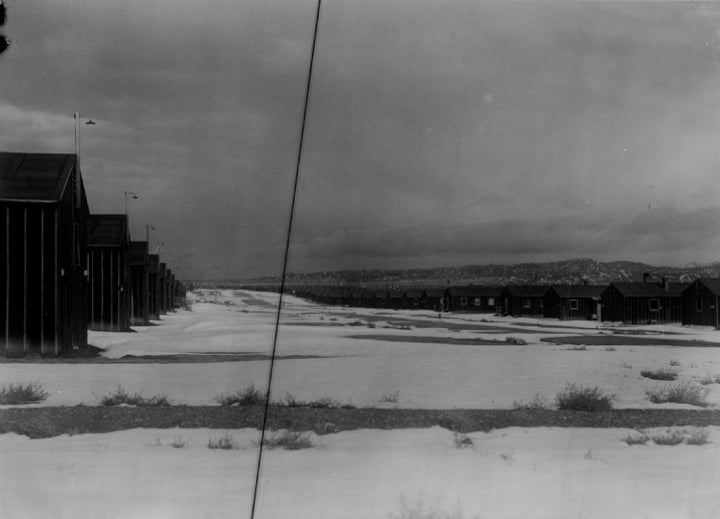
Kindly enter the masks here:
[[184, 298], [127, 215], [90, 214], [74, 154], [0, 152], [0, 355], [61, 355]]

